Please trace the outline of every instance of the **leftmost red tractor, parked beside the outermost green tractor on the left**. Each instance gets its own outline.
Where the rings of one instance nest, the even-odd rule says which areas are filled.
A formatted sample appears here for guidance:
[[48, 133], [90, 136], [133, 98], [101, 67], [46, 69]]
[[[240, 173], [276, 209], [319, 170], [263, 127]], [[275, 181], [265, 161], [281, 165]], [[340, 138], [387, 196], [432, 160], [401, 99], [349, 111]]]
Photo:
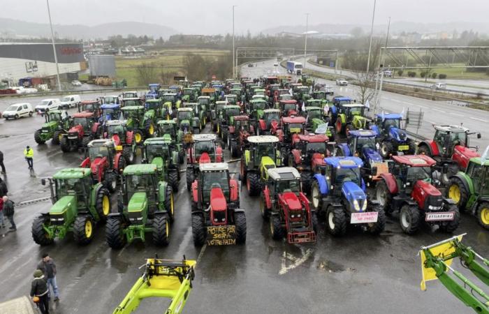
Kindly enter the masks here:
[[59, 143], [64, 153], [85, 148], [91, 140], [101, 135], [102, 126], [96, 122], [93, 112], [77, 112], [72, 118], [73, 126], [62, 135]]

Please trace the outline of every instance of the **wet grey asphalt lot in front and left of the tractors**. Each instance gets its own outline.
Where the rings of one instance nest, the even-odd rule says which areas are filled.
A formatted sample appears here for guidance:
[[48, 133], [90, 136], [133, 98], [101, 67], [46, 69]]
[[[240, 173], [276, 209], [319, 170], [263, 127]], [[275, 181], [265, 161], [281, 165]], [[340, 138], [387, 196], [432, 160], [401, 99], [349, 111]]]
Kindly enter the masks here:
[[[82, 98], [96, 96], [100, 95]], [[28, 101], [35, 105], [34, 100]], [[15, 101], [1, 99], [0, 110]], [[0, 119], [0, 150], [8, 172], [3, 179], [15, 202], [48, 196], [41, 178], [75, 167], [82, 160], [82, 154], [63, 154], [50, 142], [36, 144], [34, 130], [43, 121], [39, 116]], [[34, 148], [34, 172], [29, 172], [22, 155], [26, 145]], [[238, 166], [231, 163], [231, 171], [238, 172]], [[57, 264], [61, 294], [52, 313], [112, 313], [140, 276], [138, 267], [157, 253], [166, 259], [183, 255], [198, 259], [194, 290], [184, 313], [472, 313], [439, 282], [428, 283], [427, 292], [419, 288], [418, 249], [450, 237], [448, 234], [424, 228], [408, 236], [401, 232], [397, 220], [388, 218], [386, 230], [377, 237], [351, 229], [337, 239], [325, 231], [321, 221], [315, 244], [287, 244], [285, 239], [271, 239], [268, 223], [258, 211], [258, 198], [249, 197], [245, 187], [241, 207], [247, 215], [245, 245], [194, 247], [183, 175], [170, 245], [159, 248], [149, 241], [119, 251], [105, 244], [103, 225], [96, 227], [88, 246], [78, 246], [68, 234], [52, 246], [40, 247], [31, 238], [31, 223], [49, 210], [50, 202], [17, 207], [17, 232], [0, 229], [0, 302], [29, 294], [37, 262], [43, 253], [50, 253]], [[462, 215], [455, 233], [462, 232], [467, 232], [465, 243], [489, 256], [489, 232], [479, 227], [476, 218]], [[454, 266], [462, 269], [458, 263]], [[163, 313], [168, 304], [164, 299], [147, 299], [137, 313]]]

